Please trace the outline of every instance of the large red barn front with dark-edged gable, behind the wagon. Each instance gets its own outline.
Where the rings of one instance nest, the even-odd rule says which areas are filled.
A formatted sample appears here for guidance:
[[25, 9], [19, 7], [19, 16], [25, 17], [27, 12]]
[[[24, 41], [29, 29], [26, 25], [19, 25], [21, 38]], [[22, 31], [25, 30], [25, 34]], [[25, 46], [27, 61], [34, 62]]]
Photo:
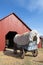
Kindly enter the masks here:
[[31, 29], [18, 17], [12, 13], [0, 20], [0, 51], [5, 48], [6, 35], [11, 32], [22, 34], [30, 32]]

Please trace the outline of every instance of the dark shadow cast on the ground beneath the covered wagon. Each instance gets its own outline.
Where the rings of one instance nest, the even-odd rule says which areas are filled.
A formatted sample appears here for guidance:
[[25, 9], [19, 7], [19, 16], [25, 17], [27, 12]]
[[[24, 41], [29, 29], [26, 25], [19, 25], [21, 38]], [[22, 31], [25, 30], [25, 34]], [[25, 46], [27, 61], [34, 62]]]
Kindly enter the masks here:
[[[14, 54], [14, 51], [12, 50], [6, 50], [3, 51], [4, 55], [15, 57], [15, 58], [20, 58], [20, 52], [17, 52], [17, 54]], [[32, 55], [26, 54], [25, 56], [33, 57]]]

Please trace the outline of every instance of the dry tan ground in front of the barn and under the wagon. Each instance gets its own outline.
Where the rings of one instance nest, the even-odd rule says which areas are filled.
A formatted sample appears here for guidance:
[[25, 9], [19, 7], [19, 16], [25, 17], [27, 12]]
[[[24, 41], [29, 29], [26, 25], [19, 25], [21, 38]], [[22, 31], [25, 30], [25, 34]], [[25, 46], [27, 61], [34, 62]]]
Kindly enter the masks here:
[[24, 59], [14, 55], [12, 49], [0, 51], [0, 65], [43, 65], [43, 49], [38, 50], [37, 57], [33, 57], [31, 52], [26, 53]]

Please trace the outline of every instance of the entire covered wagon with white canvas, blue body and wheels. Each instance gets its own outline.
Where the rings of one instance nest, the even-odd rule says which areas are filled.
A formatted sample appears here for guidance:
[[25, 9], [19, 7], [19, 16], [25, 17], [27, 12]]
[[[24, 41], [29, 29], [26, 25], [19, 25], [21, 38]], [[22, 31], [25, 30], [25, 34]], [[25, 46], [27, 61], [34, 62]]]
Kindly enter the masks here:
[[16, 34], [14, 39], [14, 53], [20, 50], [21, 58], [24, 58], [27, 51], [31, 51], [33, 56], [36, 57], [38, 54], [39, 34], [36, 30], [26, 32], [23, 34]]

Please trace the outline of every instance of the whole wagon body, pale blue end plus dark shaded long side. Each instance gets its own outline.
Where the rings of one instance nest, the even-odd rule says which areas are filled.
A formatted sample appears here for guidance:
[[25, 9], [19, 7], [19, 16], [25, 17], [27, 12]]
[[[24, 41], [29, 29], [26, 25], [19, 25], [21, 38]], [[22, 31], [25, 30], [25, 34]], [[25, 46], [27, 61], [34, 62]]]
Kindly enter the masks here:
[[22, 48], [22, 49], [25, 49], [27, 51], [33, 51], [33, 50], [38, 49], [36, 41], [31, 41], [26, 45], [17, 45], [17, 47], [18, 47], [18, 49]]

